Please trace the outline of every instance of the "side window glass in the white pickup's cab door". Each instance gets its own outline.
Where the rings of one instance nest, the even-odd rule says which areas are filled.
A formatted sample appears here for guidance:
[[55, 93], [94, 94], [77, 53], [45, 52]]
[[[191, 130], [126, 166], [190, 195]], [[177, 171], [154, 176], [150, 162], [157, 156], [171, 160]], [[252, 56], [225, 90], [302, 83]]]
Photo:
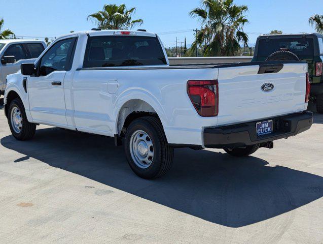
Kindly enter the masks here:
[[39, 75], [46, 76], [53, 71], [68, 70], [74, 42], [75, 38], [69, 38], [55, 43], [42, 57]]

